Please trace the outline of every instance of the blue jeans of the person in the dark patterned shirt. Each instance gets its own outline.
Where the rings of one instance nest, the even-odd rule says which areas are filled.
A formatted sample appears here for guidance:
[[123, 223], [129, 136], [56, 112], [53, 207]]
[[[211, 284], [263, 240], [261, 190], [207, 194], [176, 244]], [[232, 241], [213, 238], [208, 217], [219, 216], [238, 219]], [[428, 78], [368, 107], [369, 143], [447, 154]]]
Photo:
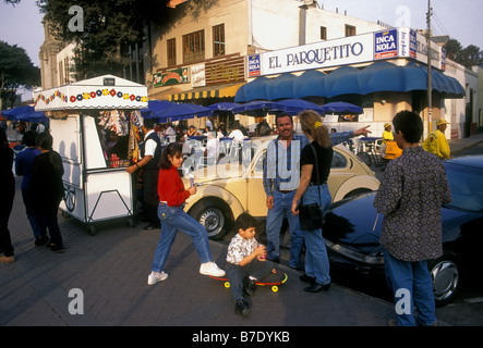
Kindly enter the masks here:
[[[398, 326], [433, 325], [436, 321], [436, 306], [427, 262], [401, 261], [384, 250], [384, 268], [387, 282], [395, 295]], [[407, 293], [396, 294], [401, 289]], [[406, 303], [406, 300], [410, 308], [406, 306], [401, 309], [401, 303]], [[418, 323], [414, 318], [414, 306], [418, 308]]]

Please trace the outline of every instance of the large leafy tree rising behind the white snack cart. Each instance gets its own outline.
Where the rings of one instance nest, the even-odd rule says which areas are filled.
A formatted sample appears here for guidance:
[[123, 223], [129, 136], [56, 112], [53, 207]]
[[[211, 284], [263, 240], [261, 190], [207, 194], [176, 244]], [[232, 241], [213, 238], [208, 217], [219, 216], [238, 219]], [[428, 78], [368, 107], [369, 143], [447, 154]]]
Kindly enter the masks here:
[[[180, 11], [171, 9], [169, 2], [37, 0], [55, 36], [61, 41], [76, 44], [74, 65], [77, 79], [107, 73], [122, 76], [123, 66], [130, 63], [129, 47], [145, 41], [146, 28], [153, 23], [157, 28], [173, 25], [174, 14]], [[196, 14], [216, 2], [218, 0], [186, 1], [180, 9]], [[82, 13], [75, 13], [73, 9], [81, 9]], [[82, 30], [73, 30], [72, 21], [82, 21]], [[80, 23], [76, 24], [79, 28]]]

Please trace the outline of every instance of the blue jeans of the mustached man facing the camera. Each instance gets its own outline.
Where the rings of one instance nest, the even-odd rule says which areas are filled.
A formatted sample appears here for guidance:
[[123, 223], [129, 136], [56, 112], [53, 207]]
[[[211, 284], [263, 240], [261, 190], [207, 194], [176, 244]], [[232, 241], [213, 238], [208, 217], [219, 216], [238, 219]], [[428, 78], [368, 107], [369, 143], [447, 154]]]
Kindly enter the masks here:
[[274, 208], [268, 209], [265, 227], [267, 233], [267, 257], [269, 260], [275, 260], [280, 257], [280, 228], [283, 223], [283, 217], [287, 217], [290, 231], [289, 265], [291, 268], [299, 268], [302, 264], [303, 236], [302, 231], [300, 231], [299, 216], [293, 216], [290, 211], [295, 191], [282, 194], [274, 190], [273, 195]]

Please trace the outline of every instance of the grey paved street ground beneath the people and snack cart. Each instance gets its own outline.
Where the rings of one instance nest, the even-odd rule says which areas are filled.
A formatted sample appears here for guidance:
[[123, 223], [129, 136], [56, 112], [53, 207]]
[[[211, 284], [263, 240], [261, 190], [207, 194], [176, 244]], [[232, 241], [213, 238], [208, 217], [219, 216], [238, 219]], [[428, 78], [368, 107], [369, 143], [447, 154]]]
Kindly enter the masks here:
[[[483, 135], [452, 141], [456, 152], [483, 141]], [[198, 273], [200, 259], [191, 239], [178, 234], [166, 272], [169, 277], [147, 285], [160, 231], [144, 231], [124, 220], [96, 225], [90, 236], [76, 219], [59, 214], [65, 252], [36, 247], [20, 192], [9, 228], [16, 261], [0, 264], [0, 326], [177, 326], [177, 327], [318, 327], [386, 326], [394, 303], [333, 284], [329, 291], [310, 294], [300, 272], [288, 274], [277, 293], [258, 287], [247, 298], [251, 313], [236, 315], [222, 282]], [[224, 245], [210, 241], [216, 260]], [[438, 322], [440, 326], [447, 325]], [[253, 330], [253, 327], [252, 327]], [[255, 328], [256, 330], [256, 328]]]

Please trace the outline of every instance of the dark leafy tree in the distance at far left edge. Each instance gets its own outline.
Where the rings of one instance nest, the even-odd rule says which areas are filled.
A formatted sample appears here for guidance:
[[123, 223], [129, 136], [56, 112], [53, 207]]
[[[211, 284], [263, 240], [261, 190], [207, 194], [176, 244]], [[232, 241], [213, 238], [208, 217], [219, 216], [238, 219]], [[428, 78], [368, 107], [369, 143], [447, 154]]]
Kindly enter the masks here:
[[23, 48], [0, 41], [0, 110], [3, 101], [13, 102], [21, 86], [40, 86], [40, 69], [34, 66]]

